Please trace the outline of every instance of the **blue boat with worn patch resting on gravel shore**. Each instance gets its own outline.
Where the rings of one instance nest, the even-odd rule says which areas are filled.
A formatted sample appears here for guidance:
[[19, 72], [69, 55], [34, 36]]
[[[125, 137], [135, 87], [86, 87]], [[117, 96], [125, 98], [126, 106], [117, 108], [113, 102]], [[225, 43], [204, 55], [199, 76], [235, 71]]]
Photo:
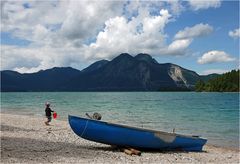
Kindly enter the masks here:
[[206, 139], [156, 130], [142, 129], [68, 116], [69, 124], [79, 137], [103, 144], [136, 149], [202, 151]]

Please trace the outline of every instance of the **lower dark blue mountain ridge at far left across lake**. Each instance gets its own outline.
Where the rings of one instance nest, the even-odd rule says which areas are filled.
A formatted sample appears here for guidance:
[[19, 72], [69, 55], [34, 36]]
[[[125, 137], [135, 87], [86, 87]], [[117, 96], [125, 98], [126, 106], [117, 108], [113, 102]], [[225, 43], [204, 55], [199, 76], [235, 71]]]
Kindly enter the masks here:
[[61, 91], [62, 86], [81, 71], [71, 67], [54, 67], [36, 73], [1, 71], [1, 91]]

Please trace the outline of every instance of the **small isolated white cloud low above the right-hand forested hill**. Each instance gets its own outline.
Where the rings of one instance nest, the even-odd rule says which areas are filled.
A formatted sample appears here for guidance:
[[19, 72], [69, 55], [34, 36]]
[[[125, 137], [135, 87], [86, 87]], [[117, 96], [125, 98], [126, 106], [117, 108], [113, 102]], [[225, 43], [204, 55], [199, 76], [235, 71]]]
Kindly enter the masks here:
[[219, 63], [219, 62], [231, 62], [235, 61], [235, 58], [232, 58], [229, 54], [224, 51], [209, 51], [203, 54], [199, 59], [199, 64], [207, 64], [207, 63]]

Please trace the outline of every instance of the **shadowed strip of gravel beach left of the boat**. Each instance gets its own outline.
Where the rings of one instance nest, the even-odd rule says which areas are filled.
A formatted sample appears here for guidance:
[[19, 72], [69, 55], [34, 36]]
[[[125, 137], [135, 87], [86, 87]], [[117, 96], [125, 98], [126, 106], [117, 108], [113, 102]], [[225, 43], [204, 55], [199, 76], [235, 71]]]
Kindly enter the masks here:
[[[96, 150], [101, 150], [97, 152]], [[92, 147], [67, 142], [49, 142], [44, 140], [1, 137], [1, 162], [7, 158], [18, 158], [20, 161], [38, 162], [55, 161], [58, 157], [93, 159], [106, 157], [103, 151], [114, 151], [111, 147]], [[95, 155], [94, 155], [95, 154]]]

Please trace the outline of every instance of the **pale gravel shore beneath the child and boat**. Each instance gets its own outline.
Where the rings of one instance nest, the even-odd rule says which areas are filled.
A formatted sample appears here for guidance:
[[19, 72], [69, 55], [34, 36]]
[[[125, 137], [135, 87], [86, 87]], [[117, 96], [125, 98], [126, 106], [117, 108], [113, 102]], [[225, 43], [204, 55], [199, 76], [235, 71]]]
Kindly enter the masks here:
[[239, 163], [239, 150], [206, 145], [203, 152], [129, 156], [75, 135], [67, 121], [1, 113], [1, 163]]

